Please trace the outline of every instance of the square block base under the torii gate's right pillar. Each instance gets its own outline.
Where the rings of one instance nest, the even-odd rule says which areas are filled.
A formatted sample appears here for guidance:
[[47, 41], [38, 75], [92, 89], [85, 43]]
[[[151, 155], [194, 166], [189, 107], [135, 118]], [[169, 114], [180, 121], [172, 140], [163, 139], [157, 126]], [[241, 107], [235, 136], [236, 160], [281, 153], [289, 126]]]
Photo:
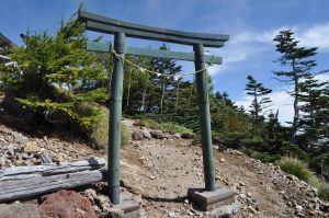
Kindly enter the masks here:
[[235, 202], [235, 195], [236, 193], [227, 187], [220, 187], [214, 192], [207, 192], [201, 187], [191, 187], [188, 191], [189, 198], [205, 211], [232, 204]]

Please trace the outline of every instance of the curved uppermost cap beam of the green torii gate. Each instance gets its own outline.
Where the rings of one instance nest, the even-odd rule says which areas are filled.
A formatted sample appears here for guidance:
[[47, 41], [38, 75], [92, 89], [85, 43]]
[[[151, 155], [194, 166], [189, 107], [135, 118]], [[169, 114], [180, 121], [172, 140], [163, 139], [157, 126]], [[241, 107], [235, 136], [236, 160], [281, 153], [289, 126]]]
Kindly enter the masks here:
[[[148, 25], [141, 25], [137, 23], [131, 23], [126, 21], [120, 21], [112, 18], [102, 16], [99, 14], [90, 13], [83, 10], [80, 10], [78, 13], [78, 20], [88, 22], [93, 21], [97, 23], [103, 23], [112, 26], [123, 27], [126, 30], [138, 30], [141, 32], [140, 36], [146, 36], [147, 33], [155, 33], [155, 34], [164, 34], [167, 36], [179, 36], [182, 38], [195, 38], [195, 39], [211, 39], [211, 41], [220, 41], [226, 42], [229, 39], [228, 35], [224, 34], [204, 34], [204, 33], [195, 33], [195, 32], [183, 32], [183, 31], [173, 31], [168, 28], [159, 28]], [[125, 32], [124, 32], [125, 33]], [[156, 39], [156, 38], [154, 38]]]

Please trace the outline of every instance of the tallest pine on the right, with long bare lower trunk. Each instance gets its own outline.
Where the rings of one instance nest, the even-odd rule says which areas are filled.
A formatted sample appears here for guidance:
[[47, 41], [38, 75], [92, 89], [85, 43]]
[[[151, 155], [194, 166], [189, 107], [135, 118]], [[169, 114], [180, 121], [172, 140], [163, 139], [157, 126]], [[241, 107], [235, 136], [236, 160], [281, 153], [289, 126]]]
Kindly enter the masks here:
[[294, 85], [294, 90], [290, 94], [294, 97], [294, 119], [292, 123], [291, 140], [295, 144], [299, 121], [299, 83], [309, 73], [311, 68], [316, 66], [315, 60], [309, 58], [316, 55], [317, 48], [298, 47], [299, 42], [294, 38], [294, 32], [291, 30], [281, 31], [273, 41], [276, 42], [276, 50], [281, 54], [277, 61], [288, 68], [287, 71], [282, 70], [274, 73], [282, 78], [279, 79], [280, 81]]

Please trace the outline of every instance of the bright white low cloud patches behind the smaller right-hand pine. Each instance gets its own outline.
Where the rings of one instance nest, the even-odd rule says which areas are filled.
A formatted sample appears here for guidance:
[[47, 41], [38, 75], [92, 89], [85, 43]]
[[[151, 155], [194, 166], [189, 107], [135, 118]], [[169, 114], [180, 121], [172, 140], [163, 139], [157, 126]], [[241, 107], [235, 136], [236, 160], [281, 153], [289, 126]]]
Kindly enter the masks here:
[[[273, 113], [279, 110], [279, 121], [282, 125], [287, 125], [286, 122], [292, 122], [294, 116], [293, 108], [293, 97], [288, 95], [285, 91], [272, 92], [268, 95], [272, 100], [273, 106], [266, 110], [272, 110]], [[236, 101], [236, 105], [242, 105], [246, 110], [249, 108], [252, 97], [245, 95], [240, 101]], [[265, 112], [265, 116], [269, 115], [269, 112]]]

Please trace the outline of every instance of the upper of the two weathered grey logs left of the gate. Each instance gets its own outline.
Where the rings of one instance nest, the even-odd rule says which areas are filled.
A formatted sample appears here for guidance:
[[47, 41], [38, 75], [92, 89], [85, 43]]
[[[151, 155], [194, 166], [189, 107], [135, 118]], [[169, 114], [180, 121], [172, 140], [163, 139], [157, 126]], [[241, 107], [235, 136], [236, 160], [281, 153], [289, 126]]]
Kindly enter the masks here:
[[105, 165], [105, 159], [91, 158], [77, 162], [49, 163], [44, 165], [4, 168], [0, 170], [0, 182], [7, 180], [24, 180], [27, 177], [41, 177], [70, 172], [97, 170]]

